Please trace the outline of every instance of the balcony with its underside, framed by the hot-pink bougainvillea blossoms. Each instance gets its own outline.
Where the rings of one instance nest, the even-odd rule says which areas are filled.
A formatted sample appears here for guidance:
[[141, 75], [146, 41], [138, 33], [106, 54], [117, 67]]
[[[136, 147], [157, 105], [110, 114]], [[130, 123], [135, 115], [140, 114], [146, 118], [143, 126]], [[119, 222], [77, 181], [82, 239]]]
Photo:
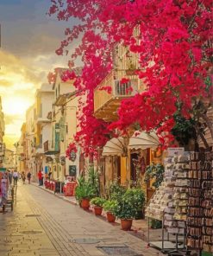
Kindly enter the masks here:
[[[94, 116], [106, 122], [117, 119], [117, 109], [122, 99], [128, 99], [141, 91], [136, 75], [128, 76], [128, 82], [121, 83], [127, 77], [125, 71], [112, 71], [94, 91]], [[107, 87], [107, 91], [104, 90]], [[109, 90], [108, 90], [109, 89]]]

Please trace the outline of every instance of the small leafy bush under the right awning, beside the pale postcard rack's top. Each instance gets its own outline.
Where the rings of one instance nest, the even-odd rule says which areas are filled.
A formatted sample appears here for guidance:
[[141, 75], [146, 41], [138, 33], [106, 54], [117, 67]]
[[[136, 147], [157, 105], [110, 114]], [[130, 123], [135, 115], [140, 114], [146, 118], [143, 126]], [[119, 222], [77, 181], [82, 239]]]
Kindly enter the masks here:
[[148, 182], [154, 178], [153, 187], [157, 189], [163, 181], [164, 171], [164, 166], [161, 163], [150, 164], [146, 168], [144, 181]]

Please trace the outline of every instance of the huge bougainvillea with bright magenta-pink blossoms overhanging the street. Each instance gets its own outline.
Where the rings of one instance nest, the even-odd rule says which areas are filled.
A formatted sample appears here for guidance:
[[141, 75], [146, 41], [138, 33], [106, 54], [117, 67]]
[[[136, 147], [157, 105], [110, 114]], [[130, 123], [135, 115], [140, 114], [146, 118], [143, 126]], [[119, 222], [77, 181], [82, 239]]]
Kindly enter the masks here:
[[[51, 2], [49, 14], [56, 14], [59, 20], [67, 22], [73, 17], [79, 21], [77, 26], [66, 29], [66, 38], [56, 53], [71, 54], [69, 67], [78, 57], [84, 63], [76, 86], [84, 88], [87, 96], [78, 137], [84, 140], [87, 150], [90, 145], [104, 144], [109, 128], [124, 131], [134, 124], [144, 131], [157, 129], [161, 142], [168, 144], [173, 139], [174, 114], [179, 112], [183, 118], [191, 118], [195, 106], [200, 106], [200, 99], [212, 95], [212, 1]], [[136, 38], [135, 28], [139, 29]], [[70, 53], [72, 42], [78, 43], [78, 47]], [[111, 53], [118, 43], [139, 55], [140, 70], [136, 73], [147, 89], [123, 100], [119, 119], [106, 124], [92, 116], [93, 93], [113, 68]], [[67, 72], [64, 79], [70, 75]]]

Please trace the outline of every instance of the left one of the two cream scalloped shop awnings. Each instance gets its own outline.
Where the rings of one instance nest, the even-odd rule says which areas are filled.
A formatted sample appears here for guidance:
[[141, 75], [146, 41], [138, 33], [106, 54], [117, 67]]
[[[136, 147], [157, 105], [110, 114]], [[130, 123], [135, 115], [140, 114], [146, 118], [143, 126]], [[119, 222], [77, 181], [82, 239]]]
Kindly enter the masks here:
[[125, 146], [124, 138], [111, 138], [103, 147], [103, 156], [125, 156], [127, 147]]

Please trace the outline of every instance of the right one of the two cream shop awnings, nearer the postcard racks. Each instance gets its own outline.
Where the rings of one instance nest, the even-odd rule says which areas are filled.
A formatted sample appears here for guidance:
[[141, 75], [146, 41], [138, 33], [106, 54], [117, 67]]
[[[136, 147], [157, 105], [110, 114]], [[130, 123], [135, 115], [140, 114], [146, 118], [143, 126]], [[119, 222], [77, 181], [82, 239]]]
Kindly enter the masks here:
[[134, 135], [129, 139], [129, 150], [147, 150], [157, 149], [159, 146], [159, 138], [154, 132], [147, 133], [145, 131], [135, 131]]

